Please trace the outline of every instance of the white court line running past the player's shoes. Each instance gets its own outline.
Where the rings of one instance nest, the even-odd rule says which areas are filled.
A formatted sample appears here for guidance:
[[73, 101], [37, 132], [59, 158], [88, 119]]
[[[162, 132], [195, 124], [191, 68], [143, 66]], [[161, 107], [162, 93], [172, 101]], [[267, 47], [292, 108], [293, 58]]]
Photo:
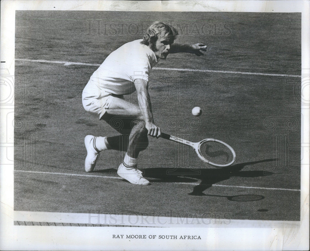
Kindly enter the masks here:
[[[51, 172], [38, 172], [38, 171], [26, 171], [26, 170], [14, 170], [14, 172], [40, 173], [40, 174], [57, 174], [57, 175], [69, 175], [69, 176], [82, 176], [82, 177], [100, 177], [100, 178], [110, 178], [110, 179], [123, 179], [121, 177], [102, 176], [102, 175], [90, 175], [90, 174], [76, 174], [76, 173], [51, 173]], [[184, 176], [184, 178], [187, 178], [187, 177]], [[198, 182], [170, 182], [170, 183], [173, 183], [173, 184], [187, 184], [187, 185], [188, 184], [189, 185], [200, 185], [200, 183], [198, 183]], [[203, 185], [207, 185], [207, 184], [203, 184]], [[219, 184], [212, 184], [211, 186], [239, 187], [239, 188], [249, 188], [249, 189], [300, 191], [300, 189], [256, 187], [256, 186], [230, 186], [230, 185], [219, 185]]]

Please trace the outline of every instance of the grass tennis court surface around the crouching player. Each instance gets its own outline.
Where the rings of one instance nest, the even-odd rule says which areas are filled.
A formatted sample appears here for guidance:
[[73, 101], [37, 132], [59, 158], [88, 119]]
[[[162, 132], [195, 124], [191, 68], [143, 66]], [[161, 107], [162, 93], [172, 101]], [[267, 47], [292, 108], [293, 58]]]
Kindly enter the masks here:
[[[300, 13], [123, 15], [16, 11], [14, 210], [299, 221]], [[151, 138], [139, 155], [151, 186], [118, 177], [124, 153], [114, 150], [85, 173], [84, 137], [117, 132], [83, 109], [82, 90], [154, 20], [181, 29], [175, 43], [207, 45], [204, 56], [172, 54], [153, 69], [155, 123], [193, 142], [225, 141], [236, 162], [215, 168], [189, 147]], [[125, 98], [137, 102], [136, 93]], [[237, 195], [261, 199], [229, 200]]]

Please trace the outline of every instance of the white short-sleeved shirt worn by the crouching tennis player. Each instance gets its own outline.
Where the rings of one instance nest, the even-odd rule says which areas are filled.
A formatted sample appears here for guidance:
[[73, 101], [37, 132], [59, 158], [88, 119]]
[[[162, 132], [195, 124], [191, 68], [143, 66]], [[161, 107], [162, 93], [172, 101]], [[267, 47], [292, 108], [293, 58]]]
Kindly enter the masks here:
[[95, 98], [111, 93], [126, 95], [135, 92], [135, 79], [148, 81], [157, 60], [155, 53], [140, 42], [142, 39], [134, 40], [112, 52], [91, 75], [83, 94]]

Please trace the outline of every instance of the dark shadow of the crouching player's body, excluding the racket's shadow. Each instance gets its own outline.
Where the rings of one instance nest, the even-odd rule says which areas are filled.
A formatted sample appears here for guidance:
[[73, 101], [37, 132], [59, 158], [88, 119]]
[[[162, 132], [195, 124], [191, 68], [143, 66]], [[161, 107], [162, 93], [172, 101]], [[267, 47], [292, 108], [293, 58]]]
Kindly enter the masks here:
[[[211, 169], [189, 169], [189, 168], [149, 168], [141, 169], [143, 176], [146, 178], [154, 178], [152, 182], [199, 182], [194, 186], [193, 191], [189, 195], [204, 196], [204, 190], [213, 184], [228, 180], [230, 177], [261, 177], [266, 176], [263, 170], [260, 171], [242, 171], [245, 166], [274, 161], [275, 159], [263, 159], [252, 162], [235, 164], [223, 168]], [[272, 173], [268, 173], [271, 175]]]

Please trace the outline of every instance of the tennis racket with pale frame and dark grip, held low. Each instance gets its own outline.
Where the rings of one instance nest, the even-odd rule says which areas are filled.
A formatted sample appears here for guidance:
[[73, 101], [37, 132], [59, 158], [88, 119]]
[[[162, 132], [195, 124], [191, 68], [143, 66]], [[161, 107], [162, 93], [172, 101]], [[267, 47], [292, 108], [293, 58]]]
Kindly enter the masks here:
[[217, 139], [191, 142], [163, 132], [160, 137], [193, 147], [202, 161], [213, 166], [226, 167], [234, 163], [236, 159], [236, 153], [232, 147]]

